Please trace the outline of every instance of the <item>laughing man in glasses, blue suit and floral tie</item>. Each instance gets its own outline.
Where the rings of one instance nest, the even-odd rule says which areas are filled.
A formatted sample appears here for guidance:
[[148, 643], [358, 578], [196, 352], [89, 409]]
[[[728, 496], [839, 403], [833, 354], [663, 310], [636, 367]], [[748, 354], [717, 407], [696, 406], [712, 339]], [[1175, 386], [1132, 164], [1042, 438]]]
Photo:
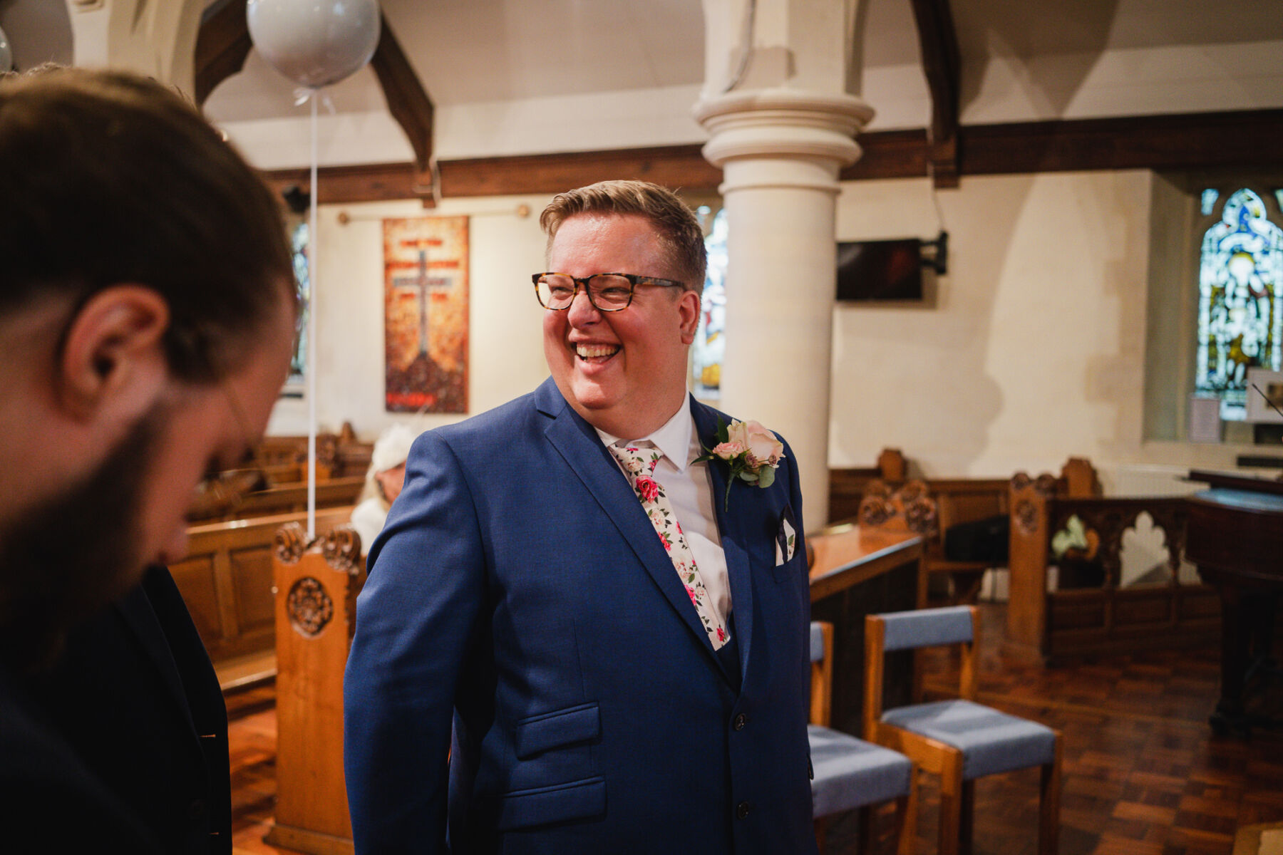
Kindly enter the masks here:
[[686, 394], [699, 224], [631, 181], [540, 223], [552, 377], [422, 435], [370, 551], [357, 851], [813, 851], [798, 474]]

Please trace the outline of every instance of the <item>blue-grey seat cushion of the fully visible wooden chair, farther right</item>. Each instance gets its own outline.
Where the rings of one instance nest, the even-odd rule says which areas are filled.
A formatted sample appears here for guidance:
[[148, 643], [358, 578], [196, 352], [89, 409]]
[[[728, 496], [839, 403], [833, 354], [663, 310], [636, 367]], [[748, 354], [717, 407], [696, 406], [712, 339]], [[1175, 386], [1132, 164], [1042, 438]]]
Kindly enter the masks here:
[[971, 701], [897, 706], [881, 720], [962, 751], [964, 781], [1042, 765], [1056, 756], [1049, 727]]

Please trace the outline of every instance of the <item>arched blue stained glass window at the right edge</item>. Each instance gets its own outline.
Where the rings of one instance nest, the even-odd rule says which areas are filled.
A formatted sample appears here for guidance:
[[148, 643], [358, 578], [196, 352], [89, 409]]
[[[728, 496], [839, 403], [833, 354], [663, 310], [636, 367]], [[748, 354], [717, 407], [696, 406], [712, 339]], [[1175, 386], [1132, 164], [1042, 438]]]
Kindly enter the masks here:
[[1196, 391], [1220, 397], [1223, 419], [1242, 420], [1255, 367], [1283, 368], [1283, 228], [1245, 187], [1202, 238]]

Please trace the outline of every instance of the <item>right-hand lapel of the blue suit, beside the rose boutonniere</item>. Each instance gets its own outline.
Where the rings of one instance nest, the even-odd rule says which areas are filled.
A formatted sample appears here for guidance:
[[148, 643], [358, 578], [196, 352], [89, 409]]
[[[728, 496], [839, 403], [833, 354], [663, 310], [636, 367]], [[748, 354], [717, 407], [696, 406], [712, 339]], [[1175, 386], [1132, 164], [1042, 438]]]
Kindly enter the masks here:
[[[690, 399], [690, 413], [695, 420], [695, 433], [706, 449], [717, 445], [717, 413]], [[726, 556], [726, 576], [730, 581], [731, 611], [735, 615], [735, 635], [739, 642], [740, 685], [748, 676], [748, 658], [753, 643], [753, 574], [748, 560], [745, 532], [745, 502], [752, 500], [748, 490], [730, 491], [726, 499], [727, 468], [724, 463], [707, 463], [713, 488], [713, 508], [717, 513], [717, 531], [721, 532], [722, 554]], [[747, 487], [747, 485], [740, 485]], [[729, 506], [729, 510], [727, 510]]]

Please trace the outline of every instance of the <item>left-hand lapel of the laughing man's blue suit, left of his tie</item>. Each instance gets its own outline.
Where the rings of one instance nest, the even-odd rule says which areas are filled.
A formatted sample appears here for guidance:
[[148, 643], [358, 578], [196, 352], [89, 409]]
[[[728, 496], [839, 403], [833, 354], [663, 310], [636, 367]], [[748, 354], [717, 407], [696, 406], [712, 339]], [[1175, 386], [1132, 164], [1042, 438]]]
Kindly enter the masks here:
[[597, 431], [566, 404], [552, 379], [536, 390], [535, 403], [540, 411], [552, 417], [544, 432], [548, 441], [593, 494], [593, 499], [620, 531], [659, 591], [716, 663], [717, 655], [713, 652], [712, 642], [708, 641], [708, 633], [704, 632], [699, 615], [690, 605], [685, 586], [672, 569], [672, 559], [656, 537], [654, 526], [647, 519], [642, 502], [638, 501], [636, 494], [633, 492], [611, 452], [602, 445]]

